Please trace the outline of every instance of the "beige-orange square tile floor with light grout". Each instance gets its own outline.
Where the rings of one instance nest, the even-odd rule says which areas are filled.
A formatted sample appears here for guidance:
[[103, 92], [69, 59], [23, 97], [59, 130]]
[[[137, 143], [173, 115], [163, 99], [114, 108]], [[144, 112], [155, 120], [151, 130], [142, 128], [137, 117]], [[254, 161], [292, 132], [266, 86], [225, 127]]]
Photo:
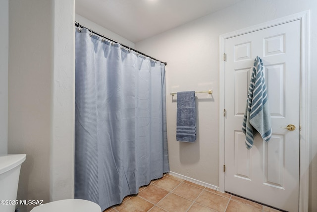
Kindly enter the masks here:
[[104, 212], [278, 212], [166, 174]]

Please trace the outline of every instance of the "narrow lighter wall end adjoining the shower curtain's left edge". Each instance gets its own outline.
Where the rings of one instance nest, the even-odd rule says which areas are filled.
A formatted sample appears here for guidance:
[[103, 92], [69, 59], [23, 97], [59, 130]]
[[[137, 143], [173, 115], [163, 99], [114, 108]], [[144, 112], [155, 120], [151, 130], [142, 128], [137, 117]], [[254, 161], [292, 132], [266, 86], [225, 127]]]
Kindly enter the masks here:
[[53, 0], [50, 201], [74, 197], [74, 0]]

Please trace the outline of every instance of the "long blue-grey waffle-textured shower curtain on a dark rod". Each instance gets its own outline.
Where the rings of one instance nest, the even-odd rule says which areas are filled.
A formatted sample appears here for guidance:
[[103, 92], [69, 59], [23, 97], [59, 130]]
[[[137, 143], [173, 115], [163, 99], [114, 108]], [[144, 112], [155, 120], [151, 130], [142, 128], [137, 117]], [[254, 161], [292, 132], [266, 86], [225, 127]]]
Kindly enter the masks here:
[[75, 198], [102, 210], [169, 171], [165, 66], [76, 30]]

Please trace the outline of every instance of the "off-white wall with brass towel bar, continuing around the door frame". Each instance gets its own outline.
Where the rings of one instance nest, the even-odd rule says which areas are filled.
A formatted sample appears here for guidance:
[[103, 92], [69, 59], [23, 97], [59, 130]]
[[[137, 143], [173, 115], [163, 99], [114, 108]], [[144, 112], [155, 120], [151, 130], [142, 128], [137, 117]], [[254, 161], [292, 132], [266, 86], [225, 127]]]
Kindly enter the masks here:
[[[198, 94], [198, 140], [175, 140], [176, 102], [167, 95], [170, 169], [219, 185], [219, 35], [310, 9], [311, 152], [309, 211], [317, 211], [317, 1], [245, 0], [188, 24], [136, 43], [136, 49], [167, 62], [167, 93], [213, 89]], [[221, 56], [220, 56], [221, 57]]]

